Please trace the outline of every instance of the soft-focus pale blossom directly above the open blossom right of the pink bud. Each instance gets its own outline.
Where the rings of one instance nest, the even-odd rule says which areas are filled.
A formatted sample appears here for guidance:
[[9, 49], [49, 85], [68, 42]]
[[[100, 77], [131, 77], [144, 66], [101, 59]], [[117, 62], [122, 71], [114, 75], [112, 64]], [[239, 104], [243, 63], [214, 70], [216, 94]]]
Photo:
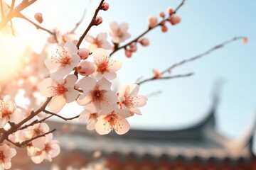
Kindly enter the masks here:
[[91, 35], [86, 35], [85, 40], [90, 42], [89, 50], [91, 52], [97, 48], [111, 49], [111, 44], [107, 41], [107, 33], [99, 33], [96, 38]]

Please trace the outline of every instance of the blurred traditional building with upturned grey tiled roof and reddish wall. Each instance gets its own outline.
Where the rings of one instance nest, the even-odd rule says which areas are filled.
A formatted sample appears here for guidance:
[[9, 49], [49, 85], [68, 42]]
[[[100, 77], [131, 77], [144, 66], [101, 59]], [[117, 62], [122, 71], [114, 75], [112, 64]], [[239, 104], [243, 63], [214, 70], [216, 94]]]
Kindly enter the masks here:
[[[48, 122], [57, 128], [60, 155], [52, 163], [35, 165], [29, 157], [15, 157], [17, 169], [110, 170], [254, 170], [252, 152], [255, 125], [238, 140], [215, 130], [216, 102], [196, 125], [180, 130], [129, 130], [98, 135], [85, 125]], [[157, 120], [156, 120], [157, 121]], [[228, 121], [228, 120], [227, 120]], [[21, 154], [18, 152], [18, 154]], [[23, 154], [26, 155], [25, 149]]]

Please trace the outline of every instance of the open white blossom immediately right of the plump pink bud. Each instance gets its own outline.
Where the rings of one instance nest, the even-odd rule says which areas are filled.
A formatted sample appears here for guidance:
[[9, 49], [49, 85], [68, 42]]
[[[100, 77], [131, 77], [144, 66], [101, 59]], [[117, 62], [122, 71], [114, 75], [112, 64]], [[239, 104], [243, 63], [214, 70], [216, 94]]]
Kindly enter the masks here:
[[110, 55], [107, 50], [103, 48], [97, 48], [93, 52], [93, 59], [95, 60], [96, 71], [92, 74], [95, 79], [106, 79], [112, 80], [117, 77], [117, 70], [122, 67], [122, 63], [118, 60], [110, 60]]

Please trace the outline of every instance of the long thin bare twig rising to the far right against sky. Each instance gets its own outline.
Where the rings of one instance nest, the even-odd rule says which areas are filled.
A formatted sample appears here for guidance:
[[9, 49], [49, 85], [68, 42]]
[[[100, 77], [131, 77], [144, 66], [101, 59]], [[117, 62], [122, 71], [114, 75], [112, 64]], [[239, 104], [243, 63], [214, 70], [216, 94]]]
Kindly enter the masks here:
[[200, 55], [196, 55], [195, 57], [191, 57], [187, 60], [183, 60], [181, 62], [173, 64], [171, 67], [169, 67], [168, 69], [165, 69], [163, 72], [161, 72], [161, 74], [164, 74], [166, 72], [170, 72], [171, 69], [174, 69], [175, 67], [181, 66], [182, 64], [185, 64], [187, 62], [192, 62], [194, 60], [198, 60], [199, 58], [210, 54], [210, 52], [213, 52], [215, 50], [220, 49], [220, 47], [224, 47], [225, 45], [228, 45], [229, 43], [234, 42], [235, 40], [242, 40], [243, 38], [245, 38], [245, 37], [235, 37], [235, 38], [232, 38], [231, 40], [227, 40], [225, 42], [222, 42], [219, 45], [215, 45], [214, 47], [211, 47], [209, 50], [207, 50], [206, 52], [201, 53]]

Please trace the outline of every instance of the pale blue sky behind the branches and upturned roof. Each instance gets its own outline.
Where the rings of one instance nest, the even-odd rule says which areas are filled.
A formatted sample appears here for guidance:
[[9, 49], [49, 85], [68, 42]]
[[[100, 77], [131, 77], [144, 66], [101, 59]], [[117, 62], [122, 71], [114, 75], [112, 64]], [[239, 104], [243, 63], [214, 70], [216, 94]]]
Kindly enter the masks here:
[[[74, 0], [37, 1], [31, 9], [23, 13], [31, 15], [41, 12], [44, 16], [42, 26], [70, 30], [80, 20], [82, 11], [89, 1]], [[85, 16], [85, 21], [78, 28], [78, 37], [87, 27], [100, 0], [93, 0]], [[173, 1], [138, 1], [110, 0], [108, 11], [100, 11], [103, 17], [100, 26], [92, 28], [90, 35], [108, 32], [109, 23], [129, 23], [132, 38], [147, 28], [148, 16], [158, 16], [159, 11], [176, 7], [180, 3]], [[46, 4], [43, 6], [43, 4]], [[131, 59], [124, 57], [124, 51], [115, 53], [113, 58], [122, 60], [123, 67], [117, 72], [119, 87], [133, 84], [138, 77], [151, 77], [152, 69], [166, 69], [176, 62], [184, 60], [225, 40], [235, 36], [247, 36], [249, 43], [241, 41], [175, 69], [173, 74], [194, 72], [193, 77], [151, 81], [140, 87], [140, 94], [148, 95], [161, 91], [157, 96], [149, 97], [142, 108], [142, 116], [129, 118], [132, 128], [177, 129], [194, 125], [202, 120], [210, 109], [215, 81], [225, 80], [220, 94], [220, 105], [216, 113], [217, 128], [227, 137], [238, 138], [255, 119], [256, 115], [256, 1], [250, 0], [187, 0], [178, 11], [182, 21], [178, 26], [169, 26], [168, 33], [161, 33], [160, 28], [152, 30], [145, 37], [149, 38], [149, 47], [139, 47]], [[34, 10], [36, 8], [36, 11]], [[28, 42], [37, 50], [38, 44], [46, 40], [48, 34], [35, 30], [22, 21], [31, 35]], [[27, 25], [26, 25], [27, 24]], [[16, 25], [18, 28], [18, 25]], [[20, 31], [22, 34], [22, 30]], [[82, 47], [87, 44], [82, 43]], [[76, 115], [76, 114], [75, 114]]]

